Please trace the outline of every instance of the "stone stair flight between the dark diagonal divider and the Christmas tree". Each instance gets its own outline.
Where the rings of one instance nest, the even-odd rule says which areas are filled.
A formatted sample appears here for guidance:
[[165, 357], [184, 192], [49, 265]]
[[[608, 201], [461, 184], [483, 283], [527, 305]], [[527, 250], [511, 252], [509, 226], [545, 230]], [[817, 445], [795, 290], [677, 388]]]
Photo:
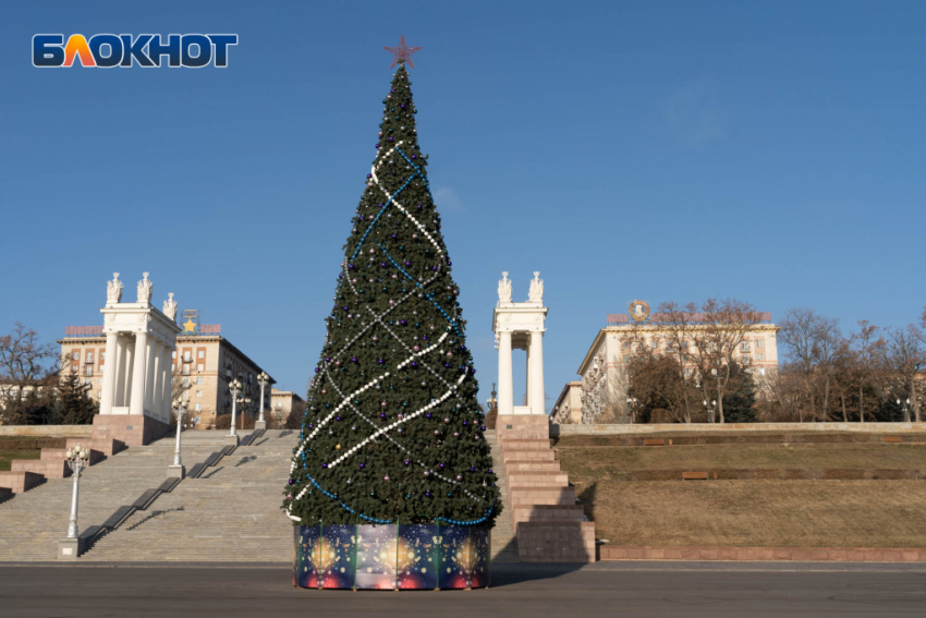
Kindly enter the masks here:
[[267, 431], [132, 514], [81, 560], [291, 561], [293, 528], [280, 505], [297, 440], [297, 432]]

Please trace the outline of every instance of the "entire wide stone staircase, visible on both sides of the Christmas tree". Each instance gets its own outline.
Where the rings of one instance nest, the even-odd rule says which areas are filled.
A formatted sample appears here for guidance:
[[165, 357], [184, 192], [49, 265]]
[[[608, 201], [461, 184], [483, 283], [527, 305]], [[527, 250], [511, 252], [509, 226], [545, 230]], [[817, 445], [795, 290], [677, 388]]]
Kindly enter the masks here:
[[[224, 434], [184, 432], [186, 469], [220, 451], [226, 446]], [[254, 444], [219, 459], [198, 478], [187, 476], [170, 493], [160, 494], [147, 508], [98, 536], [78, 560], [291, 561], [292, 524], [280, 504], [297, 439], [297, 432], [265, 432]], [[486, 432], [486, 440], [491, 446], [504, 506], [492, 530], [492, 560], [517, 561], [514, 511], [496, 432]], [[105, 459], [96, 455], [101, 460], [81, 475], [80, 530], [101, 525], [120, 507], [160, 486], [172, 463], [173, 449], [174, 438], [169, 436]], [[48, 461], [57, 460], [58, 455], [48, 453]], [[58, 541], [68, 530], [72, 487], [72, 478], [48, 478], [0, 502], [0, 561], [57, 558]]]

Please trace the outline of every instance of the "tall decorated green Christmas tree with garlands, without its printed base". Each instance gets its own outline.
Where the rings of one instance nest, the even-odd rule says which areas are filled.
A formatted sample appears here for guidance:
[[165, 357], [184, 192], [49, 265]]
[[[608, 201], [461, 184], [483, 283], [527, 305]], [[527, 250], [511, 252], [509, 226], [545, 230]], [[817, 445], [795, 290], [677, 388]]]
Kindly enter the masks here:
[[405, 58], [293, 455], [283, 508], [303, 525], [491, 526], [501, 510]]

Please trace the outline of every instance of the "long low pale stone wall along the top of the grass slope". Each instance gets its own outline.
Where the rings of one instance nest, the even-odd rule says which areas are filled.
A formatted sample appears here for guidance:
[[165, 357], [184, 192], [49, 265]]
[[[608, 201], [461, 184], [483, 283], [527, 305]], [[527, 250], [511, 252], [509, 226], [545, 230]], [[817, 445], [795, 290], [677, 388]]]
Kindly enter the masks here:
[[[501, 423], [501, 421], [499, 421]], [[727, 433], [727, 432], [861, 432], [895, 434], [926, 433], [926, 423], [662, 423], [616, 425], [550, 425], [549, 436], [604, 436], [621, 434], [672, 433]]]

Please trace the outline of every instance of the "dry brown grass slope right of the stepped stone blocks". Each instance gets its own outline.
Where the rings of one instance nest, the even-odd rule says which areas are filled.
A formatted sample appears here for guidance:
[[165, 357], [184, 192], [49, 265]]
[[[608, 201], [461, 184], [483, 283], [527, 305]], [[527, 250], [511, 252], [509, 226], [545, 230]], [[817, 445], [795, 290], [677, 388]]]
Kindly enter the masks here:
[[926, 468], [926, 445], [565, 447], [599, 538], [617, 545], [926, 547], [923, 481], [650, 481], [635, 470]]

